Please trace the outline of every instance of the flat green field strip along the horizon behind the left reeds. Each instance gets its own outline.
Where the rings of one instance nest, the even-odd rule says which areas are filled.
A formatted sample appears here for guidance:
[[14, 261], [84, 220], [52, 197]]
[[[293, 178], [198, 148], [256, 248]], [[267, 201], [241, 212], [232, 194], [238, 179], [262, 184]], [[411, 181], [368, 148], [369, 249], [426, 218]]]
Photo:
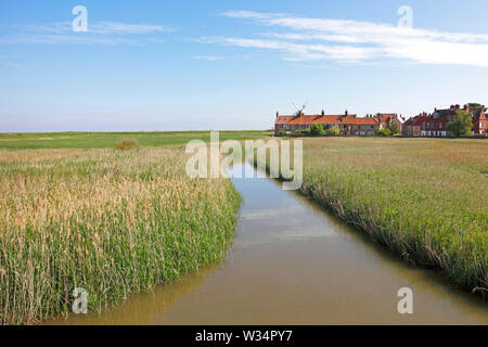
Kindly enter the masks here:
[[[220, 131], [220, 140], [257, 139], [270, 131]], [[136, 139], [141, 145], [184, 144], [200, 139], [208, 142], [209, 131], [154, 131], [154, 132], [37, 132], [0, 133], [0, 149], [102, 149], [113, 147], [121, 139]]]

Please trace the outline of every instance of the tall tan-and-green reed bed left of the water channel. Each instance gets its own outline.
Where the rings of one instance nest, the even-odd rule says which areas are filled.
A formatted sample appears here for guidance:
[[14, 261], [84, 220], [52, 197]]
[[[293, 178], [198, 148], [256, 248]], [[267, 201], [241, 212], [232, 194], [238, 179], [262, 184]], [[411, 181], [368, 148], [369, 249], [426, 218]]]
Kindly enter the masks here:
[[0, 150], [0, 323], [66, 314], [75, 287], [102, 309], [221, 260], [240, 195], [230, 180], [190, 180], [184, 156]]

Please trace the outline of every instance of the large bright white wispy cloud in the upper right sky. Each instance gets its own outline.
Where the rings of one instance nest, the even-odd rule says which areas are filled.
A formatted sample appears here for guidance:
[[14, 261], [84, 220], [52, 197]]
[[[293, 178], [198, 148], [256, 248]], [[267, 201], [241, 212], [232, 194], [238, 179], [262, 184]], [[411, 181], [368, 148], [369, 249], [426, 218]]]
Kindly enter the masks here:
[[284, 60], [357, 63], [396, 59], [423, 64], [488, 66], [488, 35], [251, 11], [229, 11], [222, 15], [288, 31], [260, 33], [264, 39], [218, 37], [207, 38], [206, 42], [282, 51]]

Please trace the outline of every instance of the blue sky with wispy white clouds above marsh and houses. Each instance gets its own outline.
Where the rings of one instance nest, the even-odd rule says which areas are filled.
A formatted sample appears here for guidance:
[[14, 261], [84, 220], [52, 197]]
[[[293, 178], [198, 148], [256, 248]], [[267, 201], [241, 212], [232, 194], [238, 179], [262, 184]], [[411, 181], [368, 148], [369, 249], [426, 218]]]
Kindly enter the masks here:
[[488, 104], [488, 1], [2, 0], [0, 76], [0, 131], [266, 129], [292, 101], [411, 116]]

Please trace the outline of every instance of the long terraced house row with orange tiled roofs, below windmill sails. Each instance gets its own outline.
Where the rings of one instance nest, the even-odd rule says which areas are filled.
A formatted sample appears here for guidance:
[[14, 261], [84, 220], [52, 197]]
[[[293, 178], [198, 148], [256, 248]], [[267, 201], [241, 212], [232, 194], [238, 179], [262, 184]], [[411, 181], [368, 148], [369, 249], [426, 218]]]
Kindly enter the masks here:
[[299, 111], [291, 116], [281, 116], [277, 112], [274, 134], [280, 134], [282, 130], [285, 133], [305, 131], [310, 129], [313, 124], [321, 124], [324, 129], [337, 127], [341, 134], [374, 136], [377, 130], [385, 129], [391, 121], [397, 123], [399, 129], [401, 129], [402, 123], [400, 117], [393, 113], [378, 113], [376, 115], [358, 117], [355, 114], [349, 114], [347, 111], [342, 115], [325, 115], [324, 111], [320, 115], [305, 115]]

